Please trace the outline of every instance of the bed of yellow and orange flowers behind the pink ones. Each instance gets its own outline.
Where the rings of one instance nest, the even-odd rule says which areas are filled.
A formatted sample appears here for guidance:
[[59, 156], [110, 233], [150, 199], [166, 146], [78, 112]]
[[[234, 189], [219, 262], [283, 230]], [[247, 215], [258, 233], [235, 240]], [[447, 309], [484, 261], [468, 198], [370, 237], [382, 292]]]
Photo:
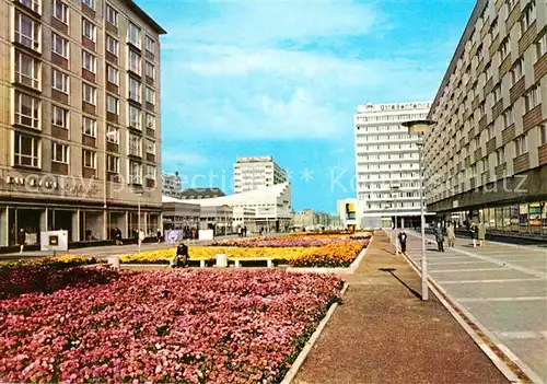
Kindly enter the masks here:
[[[190, 260], [211, 260], [217, 254], [237, 259], [271, 258], [277, 263], [289, 261], [292, 266], [347, 267], [368, 245], [368, 241], [331, 243], [312, 247], [218, 247], [189, 246]], [[142, 252], [120, 256], [124, 264], [168, 264], [175, 256], [175, 248]], [[349, 263], [348, 263], [349, 261]], [[316, 263], [315, 265], [313, 263]]]

